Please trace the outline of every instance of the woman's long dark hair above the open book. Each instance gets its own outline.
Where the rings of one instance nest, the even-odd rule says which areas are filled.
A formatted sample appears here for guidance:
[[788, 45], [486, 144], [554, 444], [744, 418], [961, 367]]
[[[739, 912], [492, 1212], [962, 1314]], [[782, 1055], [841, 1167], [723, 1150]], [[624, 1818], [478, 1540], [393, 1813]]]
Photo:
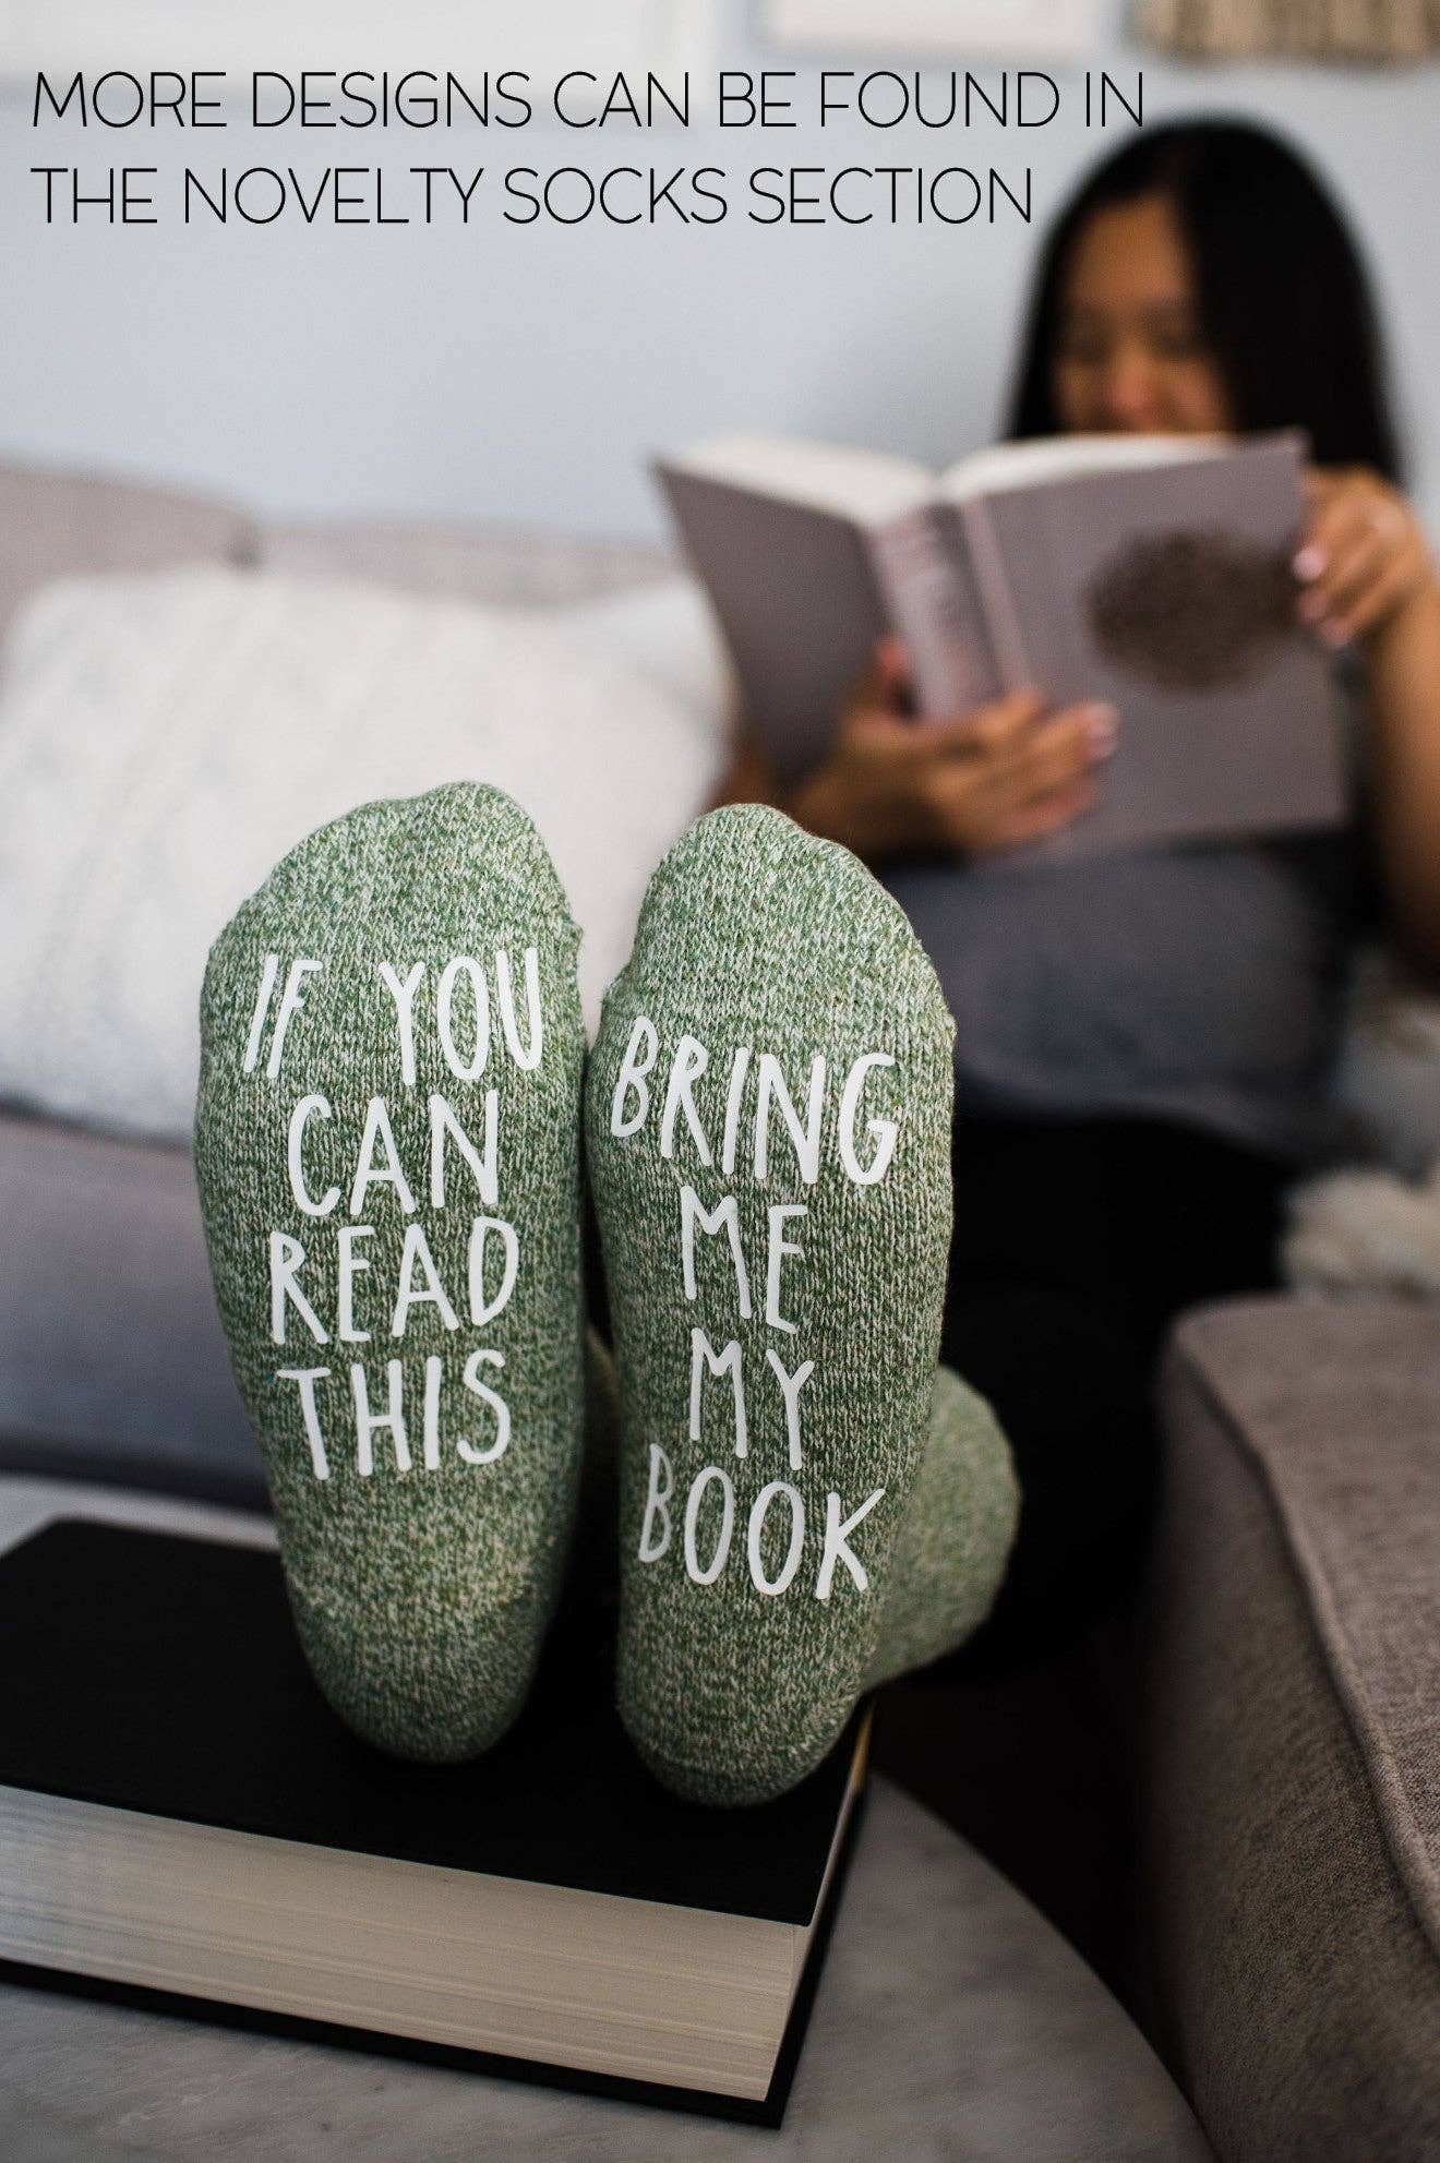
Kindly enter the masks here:
[[1163, 195], [1196, 266], [1200, 327], [1237, 426], [1304, 428], [1317, 465], [1399, 480], [1375, 305], [1345, 218], [1310, 167], [1248, 121], [1183, 121], [1107, 158], [1064, 208], [1036, 275], [1010, 435], [1055, 435], [1066, 264], [1096, 210]]

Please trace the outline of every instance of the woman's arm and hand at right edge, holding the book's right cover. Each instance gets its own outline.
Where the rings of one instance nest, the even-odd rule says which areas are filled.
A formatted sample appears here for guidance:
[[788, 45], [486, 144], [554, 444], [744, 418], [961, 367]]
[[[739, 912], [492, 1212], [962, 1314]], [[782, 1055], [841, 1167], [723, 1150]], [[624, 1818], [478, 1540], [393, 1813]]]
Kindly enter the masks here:
[[1375, 826], [1395, 932], [1440, 969], [1440, 582], [1410, 504], [1375, 474], [1310, 476], [1302, 616], [1366, 660]]

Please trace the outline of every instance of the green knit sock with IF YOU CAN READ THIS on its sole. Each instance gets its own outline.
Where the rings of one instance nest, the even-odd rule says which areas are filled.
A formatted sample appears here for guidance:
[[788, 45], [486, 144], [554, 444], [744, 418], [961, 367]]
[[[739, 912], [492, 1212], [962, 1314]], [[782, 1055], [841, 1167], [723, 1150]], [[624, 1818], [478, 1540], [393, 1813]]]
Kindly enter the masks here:
[[582, 1432], [577, 932], [525, 813], [456, 785], [301, 841], [216, 939], [210, 1268], [290, 1605], [396, 1756], [534, 1672]]

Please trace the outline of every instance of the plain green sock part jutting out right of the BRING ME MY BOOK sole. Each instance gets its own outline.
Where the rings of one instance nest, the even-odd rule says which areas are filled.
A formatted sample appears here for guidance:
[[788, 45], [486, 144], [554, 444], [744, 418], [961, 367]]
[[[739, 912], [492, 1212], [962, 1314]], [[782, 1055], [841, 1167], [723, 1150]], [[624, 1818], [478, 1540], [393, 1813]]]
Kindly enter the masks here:
[[880, 1609], [869, 1689], [973, 1637], [1005, 1577], [1021, 1514], [1010, 1443], [969, 1382], [936, 1367], [925, 1454]]

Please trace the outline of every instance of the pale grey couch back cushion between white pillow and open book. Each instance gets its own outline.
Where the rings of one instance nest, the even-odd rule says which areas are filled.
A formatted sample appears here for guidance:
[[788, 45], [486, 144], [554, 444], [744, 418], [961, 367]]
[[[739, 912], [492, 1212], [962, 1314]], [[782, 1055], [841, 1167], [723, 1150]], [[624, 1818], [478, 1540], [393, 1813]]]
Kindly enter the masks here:
[[592, 601], [675, 573], [675, 558], [644, 541], [419, 519], [268, 526], [259, 532], [259, 562], [296, 578], [363, 578], [400, 593], [504, 608]]

